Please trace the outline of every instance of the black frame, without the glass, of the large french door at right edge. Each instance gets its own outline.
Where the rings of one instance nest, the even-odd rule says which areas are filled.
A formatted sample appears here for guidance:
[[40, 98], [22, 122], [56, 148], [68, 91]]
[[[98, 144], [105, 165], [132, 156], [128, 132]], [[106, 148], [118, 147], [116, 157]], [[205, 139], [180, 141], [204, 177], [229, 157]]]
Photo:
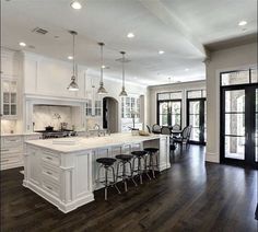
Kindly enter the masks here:
[[[236, 165], [243, 165], [243, 166], [253, 166], [255, 169], [258, 169], [258, 162], [255, 162], [256, 89], [258, 89], [257, 83], [221, 86], [221, 90], [220, 90], [221, 92], [220, 94], [221, 96], [220, 97], [220, 105], [221, 105], [220, 162], [221, 163], [236, 164]], [[245, 159], [244, 160], [225, 158], [225, 154], [224, 154], [225, 92], [233, 91], [233, 90], [245, 90]]]

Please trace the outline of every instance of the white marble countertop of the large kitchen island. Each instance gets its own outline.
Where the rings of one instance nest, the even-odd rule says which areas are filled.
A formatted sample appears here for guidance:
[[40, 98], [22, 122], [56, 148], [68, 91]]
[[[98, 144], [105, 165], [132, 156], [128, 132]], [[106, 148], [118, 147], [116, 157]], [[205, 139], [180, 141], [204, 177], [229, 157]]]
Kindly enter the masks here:
[[27, 144], [69, 153], [112, 146], [120, 146], [134, 142], [159, 139], [162, 135], [132, 136], [131, 134], [112, 134], [105, 137], [73, 137], [60, 139], [30, 140]]

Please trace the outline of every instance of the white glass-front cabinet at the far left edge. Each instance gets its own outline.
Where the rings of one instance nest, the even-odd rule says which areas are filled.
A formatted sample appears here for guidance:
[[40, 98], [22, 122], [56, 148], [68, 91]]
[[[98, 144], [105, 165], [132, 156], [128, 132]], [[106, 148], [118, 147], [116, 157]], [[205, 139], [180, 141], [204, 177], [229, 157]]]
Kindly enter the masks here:
[[1, 114], [3, 117], [17, 116], [17, 82], [15, 80], [2, 80]]

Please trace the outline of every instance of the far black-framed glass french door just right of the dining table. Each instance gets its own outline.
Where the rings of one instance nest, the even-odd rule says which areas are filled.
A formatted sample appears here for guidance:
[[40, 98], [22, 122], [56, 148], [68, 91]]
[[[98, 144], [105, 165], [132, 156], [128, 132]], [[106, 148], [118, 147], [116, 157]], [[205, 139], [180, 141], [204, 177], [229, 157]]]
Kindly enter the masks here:
[[206, 98], [187, 100], [187, 125], [192, 126], [190, 142], [206, 144]]

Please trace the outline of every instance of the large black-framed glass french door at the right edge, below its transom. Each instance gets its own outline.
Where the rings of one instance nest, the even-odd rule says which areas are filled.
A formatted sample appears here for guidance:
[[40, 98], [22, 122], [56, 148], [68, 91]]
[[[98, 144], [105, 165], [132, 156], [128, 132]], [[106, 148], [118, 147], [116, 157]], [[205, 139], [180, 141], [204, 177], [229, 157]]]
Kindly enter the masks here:
[[258, 167], [258, 84], [221, 88], [221, 161]]

